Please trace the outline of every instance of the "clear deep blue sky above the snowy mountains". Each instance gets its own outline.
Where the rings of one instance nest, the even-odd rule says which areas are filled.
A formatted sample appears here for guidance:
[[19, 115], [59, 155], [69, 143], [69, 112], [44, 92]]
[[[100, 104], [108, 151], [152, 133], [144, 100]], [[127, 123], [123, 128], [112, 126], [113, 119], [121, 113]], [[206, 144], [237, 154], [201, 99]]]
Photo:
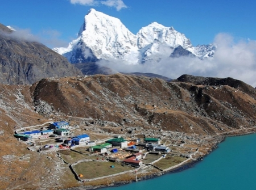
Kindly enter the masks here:
[[256, 40], [256, 2], [234, 0], [0, 0], [2, 24], [27, 29], [48, 47], [67, 45], [90, 8], [119, 18], [134, 34], [151, 22], [174, 27], [193, 45], [218, 33]]

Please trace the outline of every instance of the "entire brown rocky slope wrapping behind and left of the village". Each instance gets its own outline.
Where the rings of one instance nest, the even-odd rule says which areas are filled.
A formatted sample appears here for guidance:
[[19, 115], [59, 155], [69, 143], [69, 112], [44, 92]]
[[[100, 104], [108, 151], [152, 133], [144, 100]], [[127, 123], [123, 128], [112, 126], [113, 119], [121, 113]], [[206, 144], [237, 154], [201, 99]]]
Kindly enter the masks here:
[[256, 90], [232, 78], [183, 75], [167, 82], [94, 75], [46, 78], [32, 86], [0, 85], [0, 91], [0, 189], [80, 185], [56, 154], [29, 151], [13, 137], [24, 126], [68, 120], [81, 133], [86, 129], [86, 133], [193, 141], [204, 154], [208, 150], [201, 145], [216, 145], [216, 136], [255, 130]]

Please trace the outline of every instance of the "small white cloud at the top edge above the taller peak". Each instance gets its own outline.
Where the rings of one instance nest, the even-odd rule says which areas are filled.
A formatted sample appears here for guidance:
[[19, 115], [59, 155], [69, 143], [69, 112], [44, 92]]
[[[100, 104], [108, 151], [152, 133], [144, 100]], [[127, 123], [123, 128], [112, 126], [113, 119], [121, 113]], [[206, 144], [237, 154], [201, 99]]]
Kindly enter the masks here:
[[97, 5], [105, 5], [108, 7], [115, 7], [118, 11], [124, 8], [127, 8], [125, 3], [122, 0], [70, 0], [72, 4], [80, 4], [80, 5], [87, 5], [87, 6], [97, 6]]

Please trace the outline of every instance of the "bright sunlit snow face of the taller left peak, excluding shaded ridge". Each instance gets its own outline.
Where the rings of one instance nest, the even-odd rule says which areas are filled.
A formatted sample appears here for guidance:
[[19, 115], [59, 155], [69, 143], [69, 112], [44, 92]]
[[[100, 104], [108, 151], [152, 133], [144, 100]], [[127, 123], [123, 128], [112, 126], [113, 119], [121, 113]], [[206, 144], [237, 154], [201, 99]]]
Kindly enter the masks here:
[[118, 18], [91, 9], [82, 29], [82, 42], [97, 58], [124, 58], [137, 50], [136, 36]]

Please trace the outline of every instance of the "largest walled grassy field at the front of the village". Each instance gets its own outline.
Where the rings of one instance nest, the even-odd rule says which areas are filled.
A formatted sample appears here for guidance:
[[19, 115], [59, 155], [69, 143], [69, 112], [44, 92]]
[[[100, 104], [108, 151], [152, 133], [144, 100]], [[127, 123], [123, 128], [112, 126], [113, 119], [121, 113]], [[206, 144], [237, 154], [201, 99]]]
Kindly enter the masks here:
[[[114, 166], [114, 168], [110, 166]], [[134, 169], [132, 167], [122, 166], [116, 162], [81, 162], [73, 168], [77, 174], [83, 175], [81, 179], [98, 178]]]

